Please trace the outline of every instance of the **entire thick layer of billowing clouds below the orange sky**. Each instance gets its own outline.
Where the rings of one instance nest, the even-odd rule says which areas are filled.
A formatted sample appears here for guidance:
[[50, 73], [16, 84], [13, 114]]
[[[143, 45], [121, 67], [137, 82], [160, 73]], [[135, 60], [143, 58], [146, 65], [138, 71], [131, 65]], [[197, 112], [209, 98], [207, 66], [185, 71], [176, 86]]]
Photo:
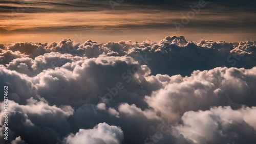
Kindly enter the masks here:
[[255, 42], [173, 36], [159, 43], [65, 39], [0, 48], [9, 143], [256, 140]]

